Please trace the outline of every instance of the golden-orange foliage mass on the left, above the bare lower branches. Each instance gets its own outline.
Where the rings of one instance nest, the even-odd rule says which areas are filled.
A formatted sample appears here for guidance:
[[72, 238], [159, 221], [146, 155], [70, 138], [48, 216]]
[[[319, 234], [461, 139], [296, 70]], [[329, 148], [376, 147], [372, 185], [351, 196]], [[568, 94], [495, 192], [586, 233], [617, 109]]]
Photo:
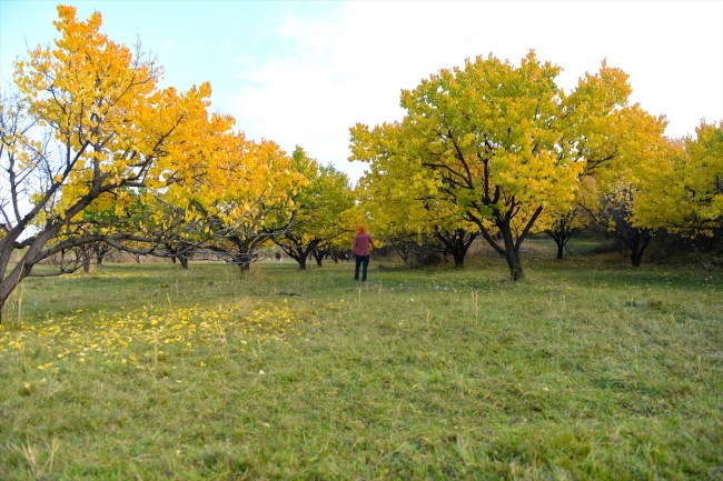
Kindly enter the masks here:
[[[232, 223], [255, 219], [259, 206], [285, 202], [304, 184], [275, 142], [248, 140], [232, 130], [231, 116], [208, 112], [208, 82], [186, 92], [160, 89], [162, 68], [153, 59], [101, 33], [99, 12], [85, 21], [76, 13], [59, 6], [55, 46], [38, 46], [16, 62], [28, 114], [68, 150], [52, 177], [58, 201], [37, 224], [48, 212], [67, 220], [83, 212], [121, 218], [159, 196], [186, 210], [186, 222], [210, 216]], [[139, 188], [140, 197], [131, 194]], [[33, 201], [46, 202], [46, 192]]]

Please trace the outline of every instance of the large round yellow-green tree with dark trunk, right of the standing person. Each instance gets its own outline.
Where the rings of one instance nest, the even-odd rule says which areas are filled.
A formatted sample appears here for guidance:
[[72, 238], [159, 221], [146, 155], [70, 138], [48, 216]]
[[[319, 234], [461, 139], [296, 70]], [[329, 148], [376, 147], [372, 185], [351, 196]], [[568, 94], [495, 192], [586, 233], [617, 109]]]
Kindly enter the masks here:
[[623, 71], [603, 62], [570, 93], [559, 71], [534, 51], [518, 67], [489, 56], [443, 69], [403, 90], [402, 122], [351, 128], [350, 160], [458, 207], [521, 279], [519, 248], [543, 212], [567, 212], [583, 172], [615, 177], [632, 159], [623, 153], [645, 142], [635, 128], [647, 118], [628, 104]]

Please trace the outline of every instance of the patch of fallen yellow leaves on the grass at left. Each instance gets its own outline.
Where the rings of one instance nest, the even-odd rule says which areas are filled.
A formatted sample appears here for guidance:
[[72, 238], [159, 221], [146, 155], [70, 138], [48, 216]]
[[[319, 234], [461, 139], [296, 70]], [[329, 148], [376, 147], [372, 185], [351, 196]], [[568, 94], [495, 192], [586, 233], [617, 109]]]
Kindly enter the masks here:
[[[23, 355], [29, 342], [33, 347], [50, 350], [57, 361], [77, 358], [81, 362], [112, 360], [138, 364], [135, 352], [162, 354], [162, 345], [178, 344], [184, 350], [220, 343], [237, 343], [240, 351], [246, 345], [283, 342], [290, 345], [287, 337], [300, 335], [297, 329], [303, 322], [288, 307], [261, 304], [250, 315], [241, 317], [238, 305], [209, 309], [195, 305], [176, 310], [143, 309], [136, 313], [100, 312], [97, 319], [76, 315], [62, 320], [48, 319], [41, 325], [22, 325], [18, 331], [0, 328], [0, 357]], [[48, 369], [50, 363], [38, 363], [37, 369]]]

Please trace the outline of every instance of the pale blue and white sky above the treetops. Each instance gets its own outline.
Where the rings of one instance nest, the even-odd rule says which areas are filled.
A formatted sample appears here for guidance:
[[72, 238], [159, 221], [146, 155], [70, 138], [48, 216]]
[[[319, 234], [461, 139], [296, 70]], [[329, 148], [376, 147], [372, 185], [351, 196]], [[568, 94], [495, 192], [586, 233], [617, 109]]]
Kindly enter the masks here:
[[[0, 78], [58, 32], [56, 1], [0, 0]], [[575, 86], [601, 61], [630, 74], [632, 100], [665, 114], [670, 137], [723, 120], [723, 0], [716, 1], [68, 1], [102, 31], [137, 36], [166, 69], [164, 84], [210, 81], [212, 111], [251, 139], [299, 144], [353, 181], [349, 127], [399, 120], [400, 89], [493, 53], [515, 64], [534, 49]]]

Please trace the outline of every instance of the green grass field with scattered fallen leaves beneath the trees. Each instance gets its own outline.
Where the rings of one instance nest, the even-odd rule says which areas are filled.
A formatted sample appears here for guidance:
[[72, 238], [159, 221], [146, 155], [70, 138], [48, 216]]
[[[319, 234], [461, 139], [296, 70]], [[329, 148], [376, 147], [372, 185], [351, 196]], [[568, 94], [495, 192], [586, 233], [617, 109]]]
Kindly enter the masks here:
[[723, 479], [723, 272], [524, 262], [29, 279], [0, 479]]

